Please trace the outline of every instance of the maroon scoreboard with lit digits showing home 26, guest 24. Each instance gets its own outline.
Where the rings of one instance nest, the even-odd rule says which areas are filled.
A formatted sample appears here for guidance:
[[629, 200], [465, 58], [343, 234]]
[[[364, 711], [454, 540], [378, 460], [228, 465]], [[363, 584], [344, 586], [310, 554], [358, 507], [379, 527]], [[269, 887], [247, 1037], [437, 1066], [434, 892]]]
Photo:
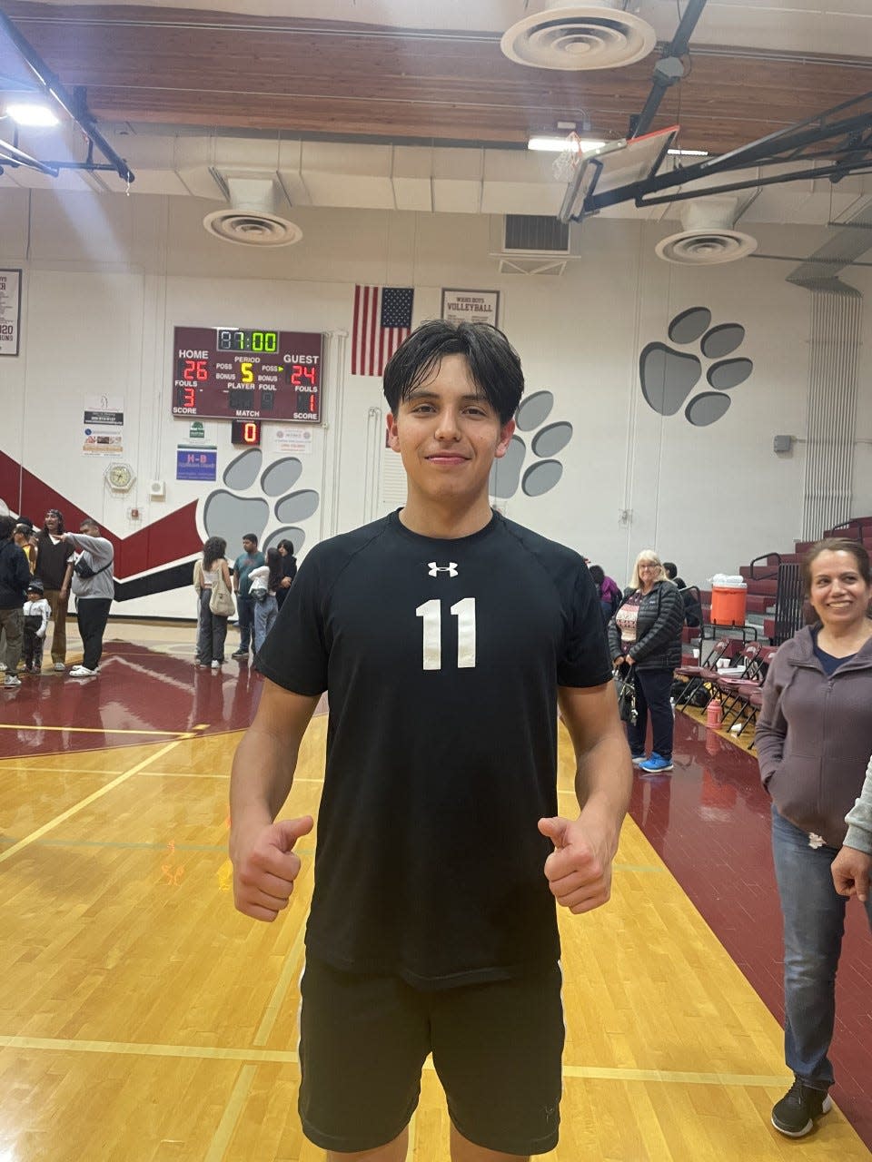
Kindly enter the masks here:
[[323, 336], [242, 327], [177, 327], [172, 414], [321, 422]]

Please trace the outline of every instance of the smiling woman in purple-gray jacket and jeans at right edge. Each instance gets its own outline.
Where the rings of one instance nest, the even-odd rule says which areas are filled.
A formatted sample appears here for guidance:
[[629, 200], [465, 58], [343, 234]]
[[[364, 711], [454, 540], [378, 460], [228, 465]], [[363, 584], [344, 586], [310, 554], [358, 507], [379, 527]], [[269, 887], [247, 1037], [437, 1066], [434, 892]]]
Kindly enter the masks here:
[[[872, 576], [866, 550], [820, 540], [803, 564], [817, 621], [780, 646], [763, 690], [757, 754], [772, 796], [785, 942], [785, 1057], [794, 1083], [772, 1110], [789, 1138], [831, 1106], [828, 1057], [845, 898], [830, 866], [872, 753]], [[872, 925], [872, 903], [865, 901]]]

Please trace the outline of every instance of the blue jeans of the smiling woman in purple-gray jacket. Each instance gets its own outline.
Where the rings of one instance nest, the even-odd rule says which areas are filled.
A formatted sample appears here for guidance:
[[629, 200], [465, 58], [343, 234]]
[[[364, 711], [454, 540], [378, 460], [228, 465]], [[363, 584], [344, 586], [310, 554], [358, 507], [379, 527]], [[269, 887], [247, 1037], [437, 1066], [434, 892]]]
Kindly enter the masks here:
[[[800, 1081], [827, 1090], [848, 899], [832, 887], [830, 865], [838, 848], [809, 847], [808, 840], [773, 804], [772, 856], [784, 916], [785, 1061]], [[866, 914], [872, 927], [872, 899]]]

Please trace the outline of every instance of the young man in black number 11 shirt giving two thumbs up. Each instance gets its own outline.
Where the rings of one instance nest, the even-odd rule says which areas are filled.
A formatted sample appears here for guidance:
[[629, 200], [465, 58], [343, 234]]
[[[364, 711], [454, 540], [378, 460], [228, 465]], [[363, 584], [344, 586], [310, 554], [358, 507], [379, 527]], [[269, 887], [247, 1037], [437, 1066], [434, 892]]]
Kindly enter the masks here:
[[[300, 1116], [329, 1159], [402, 1162], [428, 1053], [455, 1162], [557, 1142], [555, 898], [606, 903], [631, 767], [578, 553], [492, 511], [523, 390], [494, 328], [424, 323], [385, 370], [399, 511], [309, 552], [234, 762], [236, 906], [287, 905], [313, 820], [276, 816], [327, 690]], [[557, 704], [580, 813], [557, 815]]]

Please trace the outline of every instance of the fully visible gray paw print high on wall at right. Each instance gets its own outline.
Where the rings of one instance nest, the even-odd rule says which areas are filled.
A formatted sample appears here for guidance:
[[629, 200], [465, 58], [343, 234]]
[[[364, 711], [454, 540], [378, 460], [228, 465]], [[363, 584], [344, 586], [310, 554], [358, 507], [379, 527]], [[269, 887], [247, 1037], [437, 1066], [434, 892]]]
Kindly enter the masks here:
[[[726, 415], [732, 402], [729, 392], [744, 383], [753, 371], [750, 359], [728, 359], [742, 344], [745, 329], [741, 323], [721, 323], [712, 327], [712, 311], [707, 307], [691, 307], [676, 315], [669, 327], [672, 343], [682, 346], [699, 340], [699, 352], [705, 359], [715, 360], [706, 372], [713, 392], [700, 392], [685, 408], [685, 417], [695, 428], [705, 428]], [[649, 343], [638, 361], [642, 394], [655, 411], [674, 416], [702, 374], [702, 360], [695, 352], [677, 351], [665, 343]]]

